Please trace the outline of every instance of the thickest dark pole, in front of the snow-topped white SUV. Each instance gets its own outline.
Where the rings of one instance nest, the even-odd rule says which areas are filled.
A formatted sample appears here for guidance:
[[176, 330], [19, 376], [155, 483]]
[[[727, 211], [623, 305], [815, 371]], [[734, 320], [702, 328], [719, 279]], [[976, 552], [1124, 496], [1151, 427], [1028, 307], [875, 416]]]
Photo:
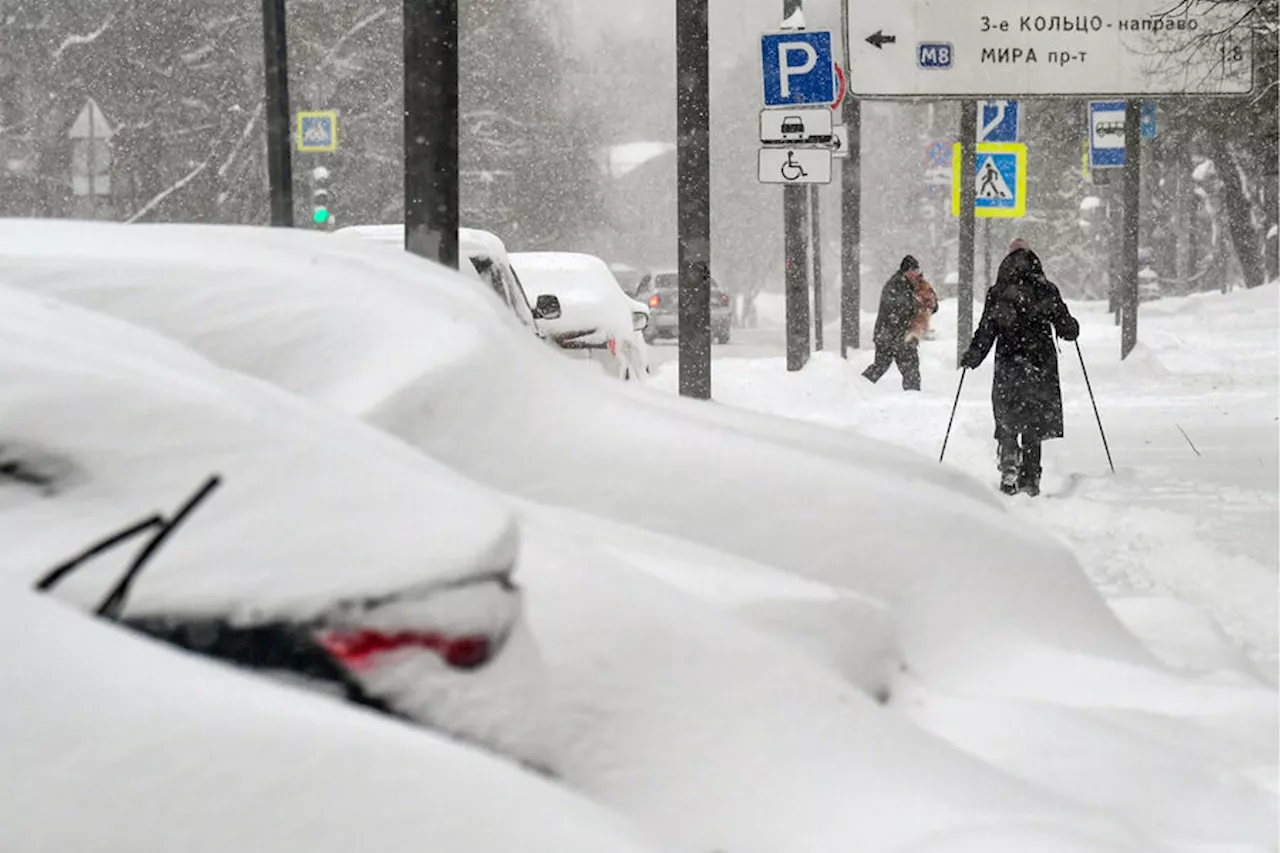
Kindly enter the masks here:
[[404, 248], [458, 266], [458, 0], [404, 0]]

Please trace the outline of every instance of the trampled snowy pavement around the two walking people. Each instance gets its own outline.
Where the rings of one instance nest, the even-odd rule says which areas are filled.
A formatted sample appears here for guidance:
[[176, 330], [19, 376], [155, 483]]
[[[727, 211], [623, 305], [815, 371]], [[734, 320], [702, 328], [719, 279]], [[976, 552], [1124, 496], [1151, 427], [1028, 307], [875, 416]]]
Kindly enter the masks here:
[[[1044, 446], [1043, 496], [1011, 498], [1010, 510], [1066, 542], [1166, 662], [1197, 672], [1245, 669], [1276, 684], [1277, 284], [1144, 304], [1138, 348], [1123, 362], [1106, 306], [1071, 309], [1116, 473], [1075, 347], [1064, 342], [1068, 435]], [[863, 319], [869, 341], [874, 318]], [[713, 396], [856, 428], [937, 459], [959, 379], [954, 300], [933, 325], [937, 338], [922, 348], [922, 394], [902, 393], [896, 370], [867, 383], [859, 373], [869, 348], [847, 362], [817, 353], [804, 371], [787, 374], [781, 353], [722, 357], [737, 355], [724, 347]], [[831, 332], [828, 341], [838, 342]], [[991, 370], [988, 359], [965, 380], [946, 464], [995, 489]], [[675, 392], [676, 364], [657, 369], [653, 384]], [[927, 532], [929, 520], [920, 525]], [[937, 544], [946, 560], [947, 543]]]

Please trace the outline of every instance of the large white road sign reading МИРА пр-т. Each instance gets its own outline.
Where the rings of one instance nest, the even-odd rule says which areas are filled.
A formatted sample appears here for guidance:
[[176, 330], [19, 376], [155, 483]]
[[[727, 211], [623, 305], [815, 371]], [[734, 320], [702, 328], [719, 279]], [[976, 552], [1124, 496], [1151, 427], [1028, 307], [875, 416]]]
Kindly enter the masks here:
[[846, 72], [855, 97], [1244, 95], [1253, 88], [1251, 33], [1234, 26], [1235, 3], [849, 4]]

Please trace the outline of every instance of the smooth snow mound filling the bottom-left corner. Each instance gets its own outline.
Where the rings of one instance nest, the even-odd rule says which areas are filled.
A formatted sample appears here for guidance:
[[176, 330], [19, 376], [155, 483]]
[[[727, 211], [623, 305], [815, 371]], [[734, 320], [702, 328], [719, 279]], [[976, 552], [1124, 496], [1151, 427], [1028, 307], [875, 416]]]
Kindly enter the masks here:
[[0, 849], [655, 853], [639, 829], [429, 731], [0, 584]]

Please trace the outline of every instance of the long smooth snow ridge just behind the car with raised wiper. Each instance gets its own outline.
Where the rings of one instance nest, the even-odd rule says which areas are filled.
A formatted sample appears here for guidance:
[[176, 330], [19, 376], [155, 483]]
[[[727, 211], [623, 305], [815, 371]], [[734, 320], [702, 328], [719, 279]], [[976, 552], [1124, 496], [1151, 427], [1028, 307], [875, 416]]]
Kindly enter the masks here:
[[[1065, 548], [927, 460], [847, 434], [805, 447], [815, 428], [782, 443], [777, 423], [712, 423], [710, 406], [611, 387], [461, 275], [282, 231], [6, 222], [0, 274], [360, 415], [502, 491], [884, 601], [920, 672], [972, 665], [1001, 637], [1155, 663]], [[836, 443], [892, 470], [823, 453]]]

